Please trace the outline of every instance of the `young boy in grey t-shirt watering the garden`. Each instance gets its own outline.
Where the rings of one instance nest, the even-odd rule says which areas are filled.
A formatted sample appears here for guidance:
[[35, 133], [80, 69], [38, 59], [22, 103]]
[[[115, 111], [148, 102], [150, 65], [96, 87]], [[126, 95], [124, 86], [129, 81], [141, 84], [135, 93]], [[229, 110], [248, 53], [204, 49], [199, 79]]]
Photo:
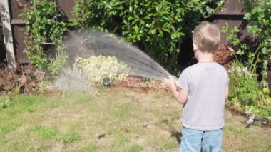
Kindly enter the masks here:
[[170, 88], [183, 104], [181, 152], [222, 151], [224, 105], [229, 79], [223, 66], [213, 60], [220, 46], [220, 31], [204, 22], [193, 32], [193, 50], [197, 64], [185, 69], [178, 83], [164, 78], [162, 86]]

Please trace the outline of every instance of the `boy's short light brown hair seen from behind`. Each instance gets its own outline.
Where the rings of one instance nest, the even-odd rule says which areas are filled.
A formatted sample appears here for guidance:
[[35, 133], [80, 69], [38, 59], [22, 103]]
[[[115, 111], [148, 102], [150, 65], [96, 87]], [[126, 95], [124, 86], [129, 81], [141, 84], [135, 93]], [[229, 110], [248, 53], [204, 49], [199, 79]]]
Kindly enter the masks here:
[[215, 24], [202, 22], [193, 32], [193, 43], [200, 51], [215, 53], [220, 46], [220, 30]]

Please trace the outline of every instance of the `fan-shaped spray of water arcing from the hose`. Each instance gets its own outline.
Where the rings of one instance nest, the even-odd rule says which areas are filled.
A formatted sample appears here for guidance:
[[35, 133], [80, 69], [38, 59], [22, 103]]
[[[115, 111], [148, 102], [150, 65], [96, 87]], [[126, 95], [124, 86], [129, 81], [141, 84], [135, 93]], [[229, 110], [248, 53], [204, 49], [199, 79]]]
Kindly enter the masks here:
[[126, 43], [114, 34], [101, 31], [73, 31], [66, 41], [69, 64], [78, 57], [86, 59], [93, 55], [115, 56], [131, 68], [132, 76], [161, 80], [170, 73], [136, 46]]

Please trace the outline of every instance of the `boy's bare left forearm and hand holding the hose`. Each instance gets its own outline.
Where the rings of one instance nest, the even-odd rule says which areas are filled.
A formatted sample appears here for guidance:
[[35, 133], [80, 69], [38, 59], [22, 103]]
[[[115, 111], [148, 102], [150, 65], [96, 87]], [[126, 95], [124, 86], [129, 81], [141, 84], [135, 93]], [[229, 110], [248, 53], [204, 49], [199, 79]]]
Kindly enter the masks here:
[[183, 91], [183, 89], [177, 88], [173, 78], [163, 78], [162, 86], [164, 88], [169, 88], [170, 91], [172, 91], [178, 103], [183, 104], [188, 100], [188, 91]]

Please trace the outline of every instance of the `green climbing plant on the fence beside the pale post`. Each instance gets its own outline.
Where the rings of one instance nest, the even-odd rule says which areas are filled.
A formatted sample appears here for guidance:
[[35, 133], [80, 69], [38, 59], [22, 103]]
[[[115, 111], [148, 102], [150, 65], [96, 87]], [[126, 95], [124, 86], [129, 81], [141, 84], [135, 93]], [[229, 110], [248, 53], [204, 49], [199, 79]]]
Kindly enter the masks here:
[[[67, 28], [66, 23], [58, 19], [61, 14], [57, 7], [53, 1], [35, 0], [21, 14], [26, 20], [27, 32], [24, 52], [34, 65], [50, 74], [56, 74], [66, 61], [62, 40]], [[46, 44], [56, 46], [56, 54], [48, 54], [44, 49]]]

